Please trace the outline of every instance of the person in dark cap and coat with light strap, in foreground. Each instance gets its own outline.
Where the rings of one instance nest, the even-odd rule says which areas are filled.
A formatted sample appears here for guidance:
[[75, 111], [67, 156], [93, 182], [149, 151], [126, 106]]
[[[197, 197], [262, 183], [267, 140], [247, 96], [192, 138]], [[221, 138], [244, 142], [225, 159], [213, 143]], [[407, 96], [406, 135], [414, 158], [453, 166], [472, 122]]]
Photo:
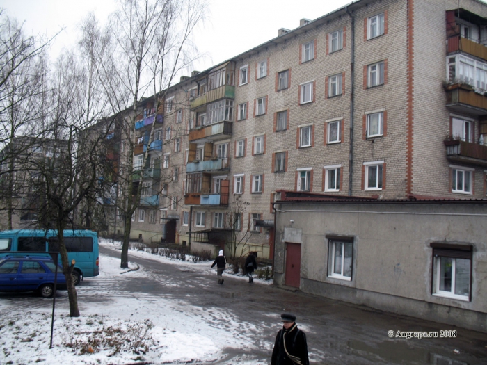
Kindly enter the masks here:
[[296, 326], [296, 316], [281, 314], [282, 329], [276, 336], [271, 365], [310, 365], [308, 343], [303, 331]]

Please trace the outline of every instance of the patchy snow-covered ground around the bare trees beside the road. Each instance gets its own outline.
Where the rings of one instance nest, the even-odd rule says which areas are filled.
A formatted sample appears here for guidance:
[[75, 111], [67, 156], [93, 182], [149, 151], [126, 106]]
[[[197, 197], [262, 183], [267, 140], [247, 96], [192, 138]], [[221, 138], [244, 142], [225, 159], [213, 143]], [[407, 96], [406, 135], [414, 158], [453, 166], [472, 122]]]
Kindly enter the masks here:
[[[120, 243], [100, 240], [100, 245], [117, 249]], [[118, 251], [120, 252], [120, 251]], [[145, 257], [191, 270], [211, 272], [208, 261], [175, 261], [137, 250], [129, 258]], [[129, 264], [136, 268], [134, 263]], [[120, 259], [100, 254], [100, 275], [93, 280], [98, 285], [77, 287], [81, 295], [109, 295], [111, 282], [149, 275], [143, 267], [138, 270], [120, 269]], [[246, 280], [246, 277], [241, 277]], [[271, 284], [255, 279], [255, 284]], [[105, 284], [105, 285], [104, 285]], [[99, 288], [99, 289], [97, 289]], [[100, 290], [103, 288], [103, 292]], [[109, 289], [110, 290], [110, 289]], [[33, 295], [13, 295], [0, 298], [0, 364], [242, 364], [259, 365], [255, 358], [239, 355], [225, 360], [223, 348], [246, 348], [253, 344], [242, 334], [244, 326], [256, 330], [251, 323], [241, 323], [229, 312], [221, 313], [211, 307], [181, 305], [163, 298], [144, 300], [138, 295], [113, 295], [106, 301], [79, 302], [81, 316], [71, 318], [67, 292], [56, 297], [53, 348], [49, 349], [52, 299]], [[161, 311], [163, 308], [163, 311]], [[184, 308], [184, 309], [182, 309]], [[263, 343], [259, 350], [270, 353], [273, 343]]]

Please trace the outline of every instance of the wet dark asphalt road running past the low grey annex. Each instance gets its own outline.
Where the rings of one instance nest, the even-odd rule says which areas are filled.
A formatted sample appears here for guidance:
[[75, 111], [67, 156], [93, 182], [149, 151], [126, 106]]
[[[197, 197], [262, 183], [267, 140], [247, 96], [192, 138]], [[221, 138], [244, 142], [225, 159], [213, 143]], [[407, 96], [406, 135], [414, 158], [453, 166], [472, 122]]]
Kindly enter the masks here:
[[[120, 252], [102, 247], [99, 250], [102, 254], [120, 257]], [[487, 334], [387, 314], [257, 282], [248, 284], [246, 280], [232, 275], [224, 275], [225, 283], [221, 286], [216, 283], [216, 274], [130, 257], [130, 254], [129, 260], [144, 266], [151, 274], [118, 282], [118, 292], [231, 312], [233, 321], [250, 323], [259, 329], [249, 333], [257, 349], [265, 347], [261, 346], [262, 343], [273, 343], [280, 328], [280, 313], [289, 311], [296, 314], [298, 326], [302, 324], [307, 329], [311, 364], [487, 364]], [[90, 282], [86, 280], [81, 286], [90, 286]], [[170, 285], [165, 285], [165, 282], [170, 282]], [[113, 287], [109, 292], [113, 293]], [[81, 302], [110, 300], [106, 295], [83, 298], [82, 291], [78, 291], [78, 297]], [[24, 298], [24, 302], [31, 301]], [[389, 330], [438, 333], [440, 330], [456, 330], [456, 338], [390, 339]], [[269, 351], [227, 348], [225, 352], [225, 359], [212, 364], [238, 364], [238, 359], [244, 358], [260, 363], [271, 362]]]

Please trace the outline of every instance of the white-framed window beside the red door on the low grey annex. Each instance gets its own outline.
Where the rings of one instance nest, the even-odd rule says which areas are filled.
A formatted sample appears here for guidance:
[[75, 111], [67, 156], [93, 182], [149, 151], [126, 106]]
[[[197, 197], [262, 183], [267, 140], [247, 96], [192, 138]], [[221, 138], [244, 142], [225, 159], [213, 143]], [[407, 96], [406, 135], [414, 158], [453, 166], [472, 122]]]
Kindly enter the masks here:
[[328, 242], [328, 276], [342, 280], [351, 280], [353, 242], [334, 239]]

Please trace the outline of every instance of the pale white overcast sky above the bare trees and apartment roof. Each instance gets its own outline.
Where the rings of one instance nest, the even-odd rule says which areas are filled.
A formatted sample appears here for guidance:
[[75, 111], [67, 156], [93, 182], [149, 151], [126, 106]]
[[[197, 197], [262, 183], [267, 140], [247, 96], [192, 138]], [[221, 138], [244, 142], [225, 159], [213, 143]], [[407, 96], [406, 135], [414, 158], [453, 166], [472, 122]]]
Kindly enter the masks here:
[[[194, 65], [202, 71], [276, 38], [278, 29], [295, 29], [303, 18], [317, 19], [351, 0], [209, 0], [209, 16], [195, 33], [200, 53], [207, 55]], [[51, 57], [79, 38], [79, 24], [95, 13], [102, 24], [118, 0], [0, 0], [0, 7], [24, 22], [28, 34], [54, 35], [64, 29], [51, 47]]]

